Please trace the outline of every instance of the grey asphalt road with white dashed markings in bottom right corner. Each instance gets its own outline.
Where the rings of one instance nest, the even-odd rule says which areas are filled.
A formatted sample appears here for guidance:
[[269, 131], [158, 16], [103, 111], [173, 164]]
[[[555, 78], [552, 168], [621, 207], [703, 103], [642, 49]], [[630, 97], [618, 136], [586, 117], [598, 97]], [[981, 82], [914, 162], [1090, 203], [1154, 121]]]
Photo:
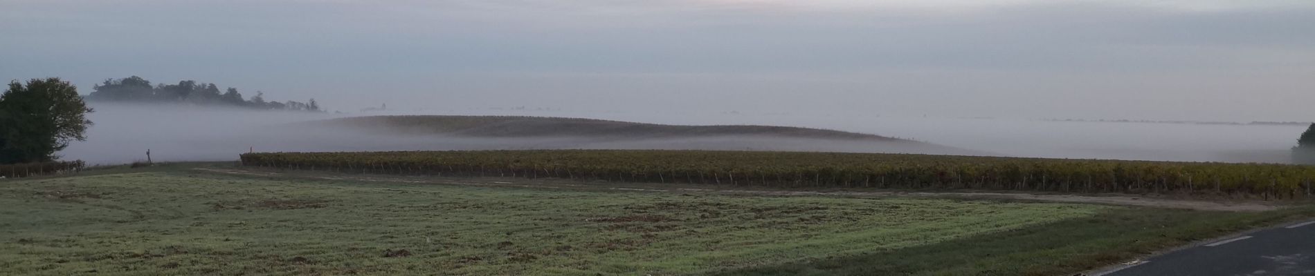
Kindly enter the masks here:
[[1315, 221], [1228, 237], [1095, 276], [1315, 276]]

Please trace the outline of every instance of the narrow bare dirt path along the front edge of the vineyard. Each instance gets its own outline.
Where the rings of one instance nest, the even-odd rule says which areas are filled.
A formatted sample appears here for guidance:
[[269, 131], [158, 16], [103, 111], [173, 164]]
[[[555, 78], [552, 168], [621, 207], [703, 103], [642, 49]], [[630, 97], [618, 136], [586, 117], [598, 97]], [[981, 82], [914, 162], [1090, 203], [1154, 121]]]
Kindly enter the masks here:
[[[383, 175], [347, 175], [347, 174], [321, 174], [312, 171], [277, 173], [263, 169], [214, 169], [197, 167], [193, 170], [252, 175], [252, 177], [293, 177], [325, 181], [363, 181], [363, 182], [396, 182], [396, 183], [434, 183], [434, 184], [466, 184], [466, 186], [494, 186], [494, 187], [533, 187], [533, 188], [579, 188], [579, 190], [614, 190], [614, 191], [646, 191], [646, 192], [700, 192], [700, 194], [727, 194], [727, 195], [773, 195], [773, 196], [915, 196], [915, 198], [960, 198], [960, 199], [1006, 199], [1006, 200], [1039, 200], [1059, 203], [1093, 203], [1110, 205], [1136, 205], [1201, 211], [1243, 211], [1260, 212], [1273, 211], [1279, 207], [1272, 203], [1233, 201], [1233, 200], [1184, 200], [1141, 198], [1131, 195], [1060, 195], [1060, 194], [1015, 194], [1015, 192], [901, 192], [901, 191], [797, 191], [797, 190], [742, 190], [742, 188], [694, 188], [688, 184], [643, 184], [643, 183], [597, 183], [564, 179], [519, 179], [519, 178], [451, 178], [451, 177], [383, 177]], [[702, 186], [700, 186], [702, 187]]]

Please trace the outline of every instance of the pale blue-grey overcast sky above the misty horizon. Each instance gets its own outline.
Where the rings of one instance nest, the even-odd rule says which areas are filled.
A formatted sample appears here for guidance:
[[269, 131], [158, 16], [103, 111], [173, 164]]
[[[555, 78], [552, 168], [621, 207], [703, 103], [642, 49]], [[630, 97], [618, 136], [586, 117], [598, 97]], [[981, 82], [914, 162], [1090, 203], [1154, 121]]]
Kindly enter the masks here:
[[1315, 120], [1311, 0], [0, 0], [0, 78], [355, 111]]

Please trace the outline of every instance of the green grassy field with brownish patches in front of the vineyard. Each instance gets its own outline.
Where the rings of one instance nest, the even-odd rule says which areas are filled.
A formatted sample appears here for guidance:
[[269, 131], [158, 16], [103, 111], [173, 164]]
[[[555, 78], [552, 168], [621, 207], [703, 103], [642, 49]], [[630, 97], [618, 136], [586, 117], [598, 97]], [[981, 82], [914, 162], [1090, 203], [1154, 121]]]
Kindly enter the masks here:
[[0, 181], [0, 275], [1061, 275], [1310, 213], [362, 183], [189, 166]]

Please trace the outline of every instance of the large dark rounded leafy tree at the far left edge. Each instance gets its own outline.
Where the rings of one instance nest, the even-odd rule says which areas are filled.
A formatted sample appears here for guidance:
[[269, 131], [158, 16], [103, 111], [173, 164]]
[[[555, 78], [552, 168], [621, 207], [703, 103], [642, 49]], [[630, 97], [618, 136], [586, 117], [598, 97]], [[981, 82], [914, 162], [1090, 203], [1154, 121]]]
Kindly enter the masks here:
[[0, 164], [42, 162], [70, 141], [87, 140], [92, 124], [78, 88], [68, 81], [33, 78], [28, 85], [9, 82], [0, 94]]

